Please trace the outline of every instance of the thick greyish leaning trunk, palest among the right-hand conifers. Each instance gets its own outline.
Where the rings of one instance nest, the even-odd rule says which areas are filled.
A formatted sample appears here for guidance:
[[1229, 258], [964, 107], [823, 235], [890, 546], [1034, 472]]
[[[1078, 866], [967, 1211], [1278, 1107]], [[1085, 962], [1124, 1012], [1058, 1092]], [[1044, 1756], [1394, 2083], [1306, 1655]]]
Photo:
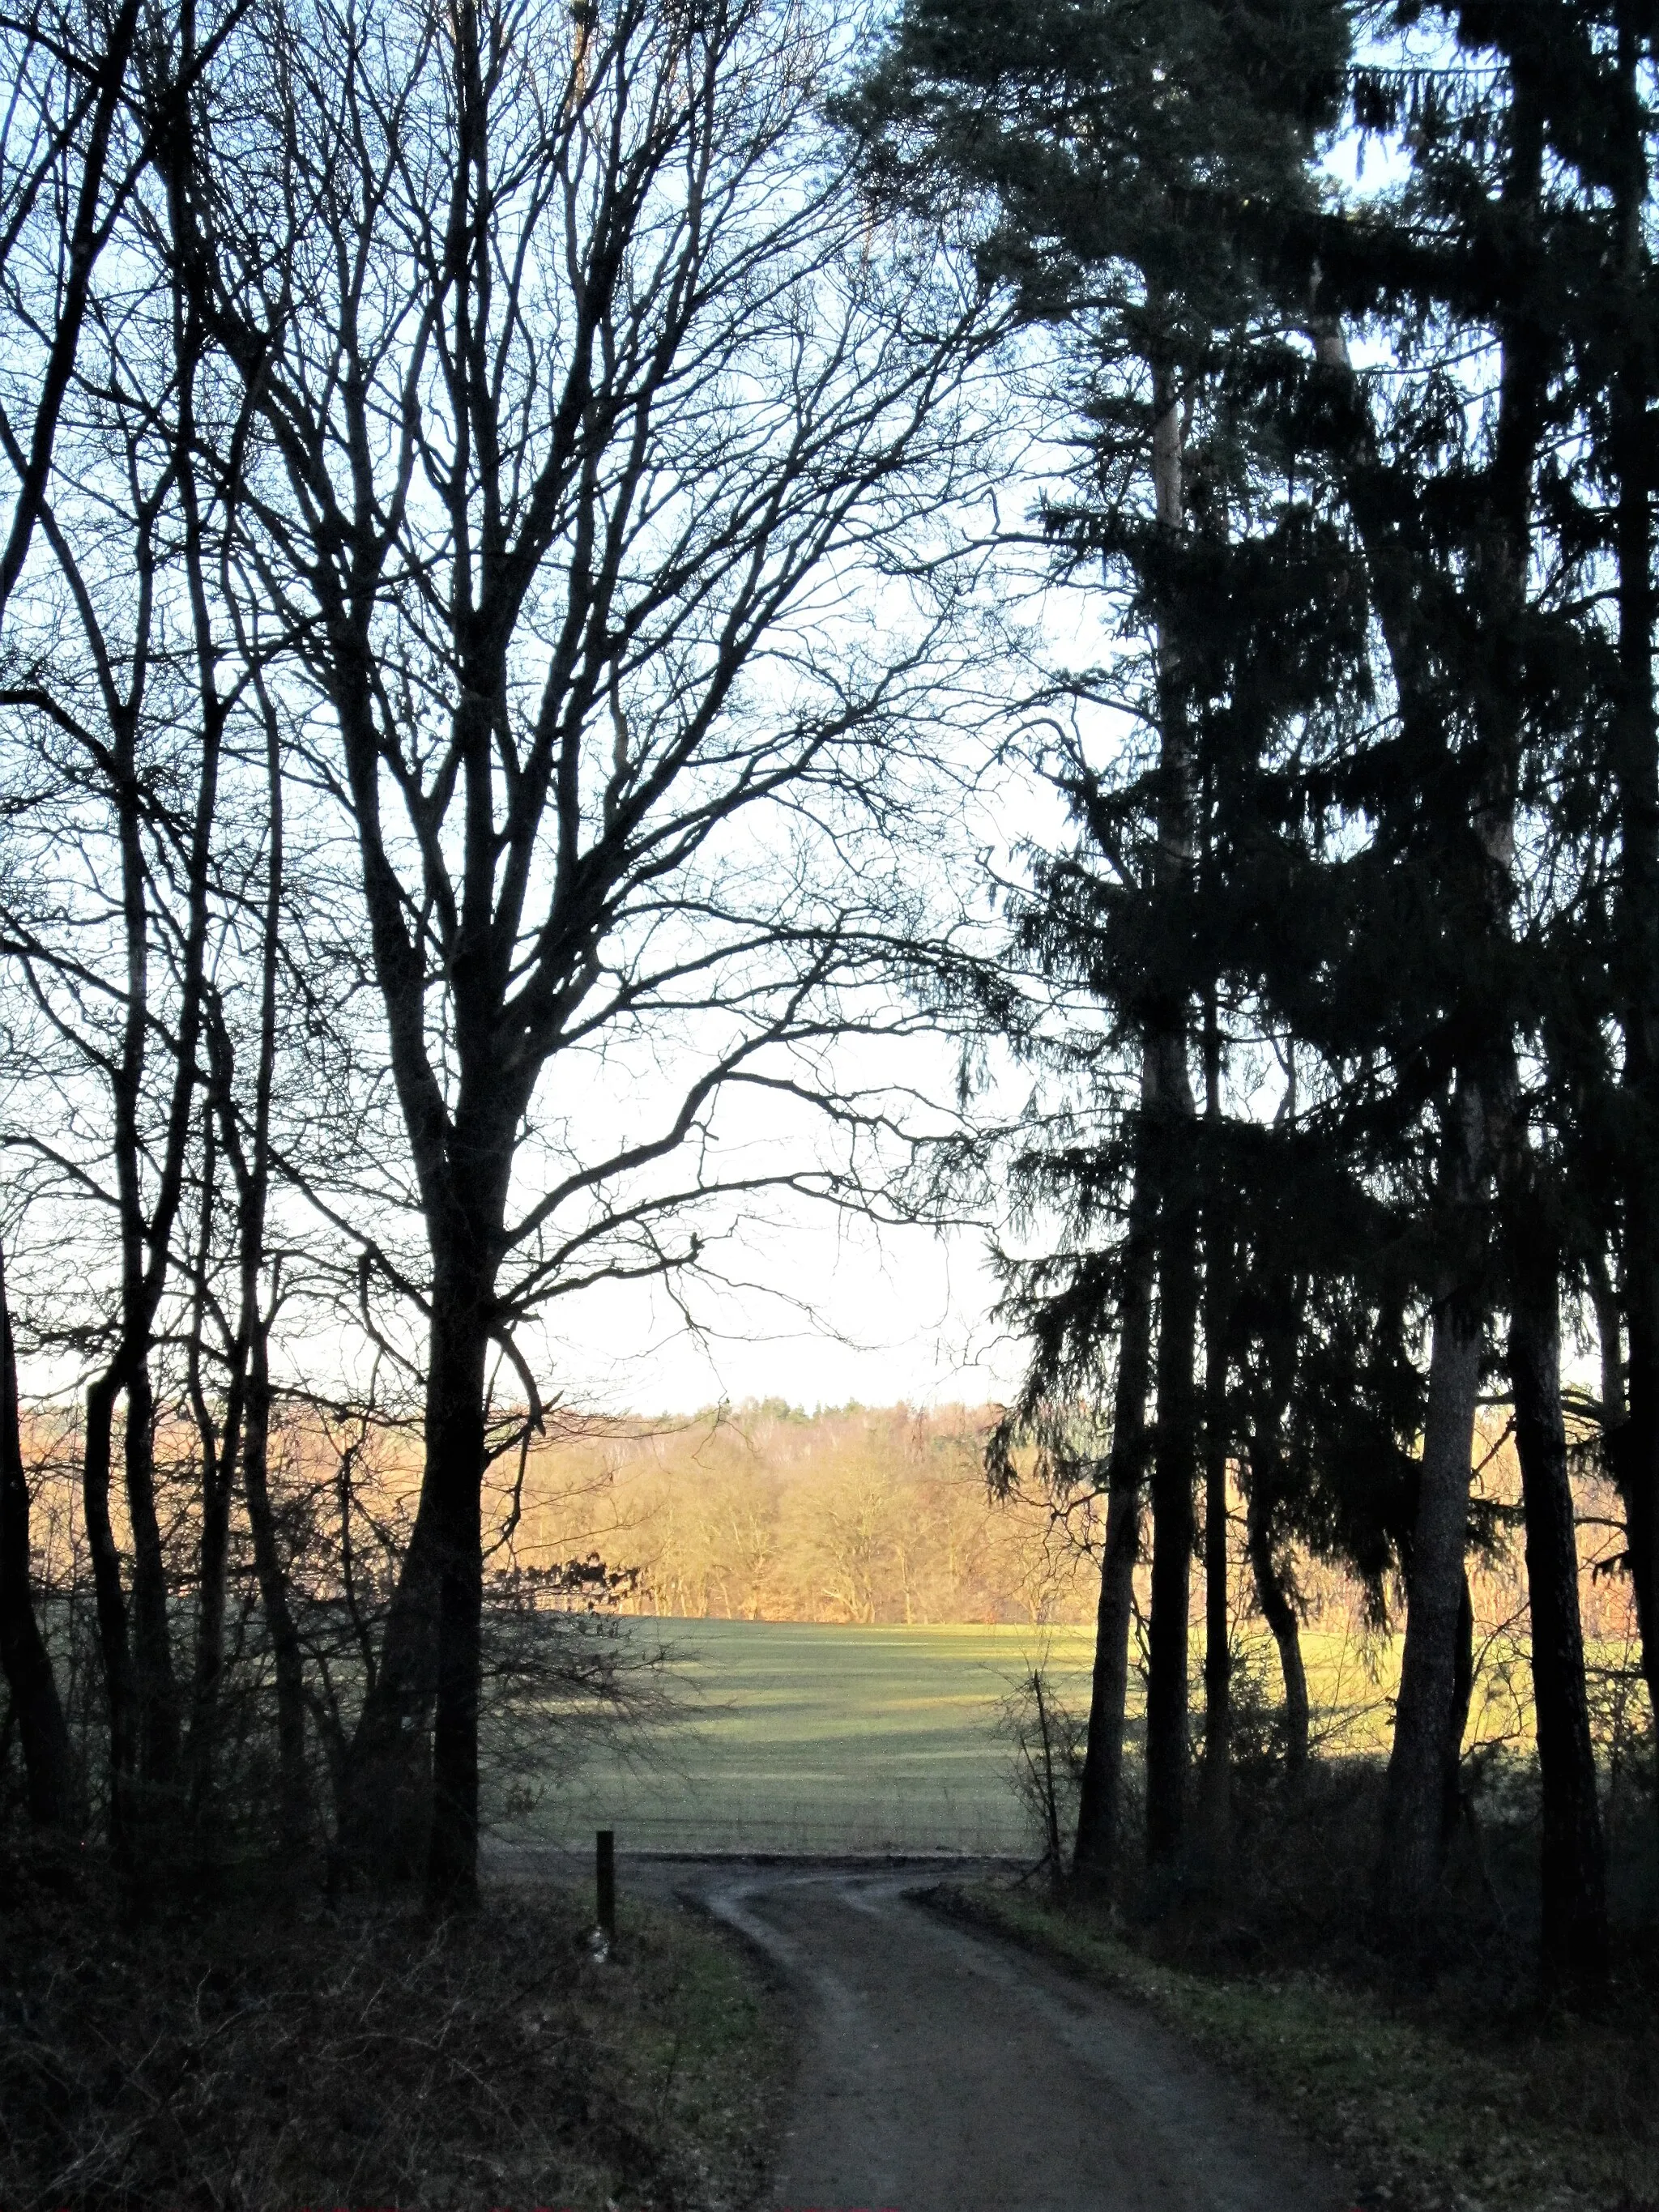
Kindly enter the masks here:
[[[1455, 1219], [1478, 1186], [1480, 1093], [1458, 1079], [1442, 1152], [1440, 1203]], [[1464, 1604], [1469, 1482], [1480, 1394], [1480, 1314], [1447, 1279], [1433, 1310], [1429, 1409], [1422, 1429], [1418, 1517], [1411, 1533], [1405, 1657], [1383, 1798], [1378, 1905], [1413, 1938], [1444, 1865], [1447, 1752], [1455, 1728], [1458, 1615]]]

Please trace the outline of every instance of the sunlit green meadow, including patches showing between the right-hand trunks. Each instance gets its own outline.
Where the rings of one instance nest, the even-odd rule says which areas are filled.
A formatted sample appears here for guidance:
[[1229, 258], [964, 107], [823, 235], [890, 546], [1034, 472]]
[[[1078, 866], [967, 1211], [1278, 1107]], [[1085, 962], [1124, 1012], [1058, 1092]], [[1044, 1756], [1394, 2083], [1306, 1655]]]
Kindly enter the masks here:
[[[622, 1743], [593, 1741], [544, 1776], [509, 1834], [584, 1847], [595, 1827], [613, 1827], [622, 1849], [1022, 1854], [1035, 1838], [998, 1725], [1004, 1701], [1040, 1666], [1060, 1705], [1088, 1708], [1093, 1628], [1079, 1626], [624, 1619], [617, 1630], [641, 1652], [666, 1650], [677, 1717]], [[1267, 1719], [1279, 1701], [1272, 1639], [1241, 1621], [1234, 1652], [1245, 1723]], [[1385, 1756], [1398, 1639], [1310, 1626], [1303, 1655], [1321, 1754]], [[1192, 1657], [1197, 1674], [1201, 1637]], [[1590, 1659], [1608, 1674], [1628, 1663], [1608, 1646]], [[1531, 1750], [1528, 1692], [1524, 1639], [1491, 1628], [1467, 1745]]]

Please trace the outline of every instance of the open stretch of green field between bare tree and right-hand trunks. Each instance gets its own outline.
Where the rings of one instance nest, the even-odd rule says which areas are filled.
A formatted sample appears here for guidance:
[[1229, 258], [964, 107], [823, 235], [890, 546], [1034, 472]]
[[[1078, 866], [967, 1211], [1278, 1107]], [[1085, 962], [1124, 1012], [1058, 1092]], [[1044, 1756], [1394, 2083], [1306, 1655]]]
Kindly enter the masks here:
[[522, 1838], [619, 1849], [1024, 1851], [998, 1705], [1042, 1663], [1088, 1699], [1086, 1628], [628, 1621], [686, 1717], [549, 1785]]

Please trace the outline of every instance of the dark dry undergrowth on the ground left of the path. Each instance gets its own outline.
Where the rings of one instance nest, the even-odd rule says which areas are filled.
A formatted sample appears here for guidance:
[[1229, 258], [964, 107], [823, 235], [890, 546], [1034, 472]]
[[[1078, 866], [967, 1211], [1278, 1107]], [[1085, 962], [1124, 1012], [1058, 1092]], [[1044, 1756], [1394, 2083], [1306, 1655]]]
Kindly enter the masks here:
[[4, 2212], [752, 2201], [779, 2079], [710, 1929], [515, 1887], [407, 1907], [248, 1893], [131, 1924], [95, 1867], [0, 1863]]

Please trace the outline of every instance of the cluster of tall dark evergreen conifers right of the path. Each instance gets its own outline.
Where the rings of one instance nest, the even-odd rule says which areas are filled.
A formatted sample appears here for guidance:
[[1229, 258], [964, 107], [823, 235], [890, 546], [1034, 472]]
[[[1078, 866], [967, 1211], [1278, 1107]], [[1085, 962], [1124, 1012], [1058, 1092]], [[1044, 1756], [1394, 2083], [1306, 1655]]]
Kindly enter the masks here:
[[1071, 407], [1033, 535], [1097, 646], [1031, 728], [1075, 834], [984, 1006], [1048, 1079], [1000, 1172], [1064, 1225], [1009, 1259], [993, 1469], [1035, 1440], [1108, 1504], [1077, 1874], [1115, 1876], [1146, 1540], [1146, 1856], [1225, 1863], [1237, 1467], [1270, 1619], [1290, 1544], [1405, 1601], [1376, 1907], [1431, 1940], [1498, 1402], [1557, 1986], [1608, 1960], [1575, 1455], [1659, 1668], [1657, 33], [1639, 0], [907, 0], [856, 108]]

